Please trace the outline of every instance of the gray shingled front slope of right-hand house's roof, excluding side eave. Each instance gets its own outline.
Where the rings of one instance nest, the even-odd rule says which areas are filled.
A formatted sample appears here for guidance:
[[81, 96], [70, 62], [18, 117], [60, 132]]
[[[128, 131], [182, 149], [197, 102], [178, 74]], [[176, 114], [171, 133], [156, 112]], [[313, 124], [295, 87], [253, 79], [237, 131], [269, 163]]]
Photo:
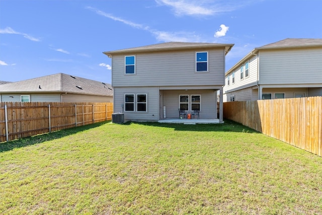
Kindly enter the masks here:
[[264, 46], [261, 46], [257, 49], [266, 49], [266, 48], [291, 48], [291, 47], [308, 47], [308, 46], [322, 46], [322, 39], [292, 39], [287, 38], [280, 40], [275, 43], [270, 43]]

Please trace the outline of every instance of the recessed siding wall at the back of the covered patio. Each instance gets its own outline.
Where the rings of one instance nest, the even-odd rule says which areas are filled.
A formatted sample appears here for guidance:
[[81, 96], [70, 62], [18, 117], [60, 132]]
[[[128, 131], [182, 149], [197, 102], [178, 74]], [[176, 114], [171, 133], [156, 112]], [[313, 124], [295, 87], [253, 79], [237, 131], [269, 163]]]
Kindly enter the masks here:
[[191, 95], [200, 95], [200, 118], [217, 118], [217, 91], [214, 90], [165, 90], [163, 91], [164, 106], [166, 106], [167, 118], [179, 117], [179, 96], [189, 95], [189, 110], [191, 113]]

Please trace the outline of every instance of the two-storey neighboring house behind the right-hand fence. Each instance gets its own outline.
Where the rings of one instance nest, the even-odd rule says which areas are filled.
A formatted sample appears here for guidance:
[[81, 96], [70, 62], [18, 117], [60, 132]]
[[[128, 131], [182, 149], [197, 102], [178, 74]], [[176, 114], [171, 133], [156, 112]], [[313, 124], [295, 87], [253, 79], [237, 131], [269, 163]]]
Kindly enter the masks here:
[[225, 79], [224, 102], [322, 96], [322, 39], [284, 39], [255, 48]]

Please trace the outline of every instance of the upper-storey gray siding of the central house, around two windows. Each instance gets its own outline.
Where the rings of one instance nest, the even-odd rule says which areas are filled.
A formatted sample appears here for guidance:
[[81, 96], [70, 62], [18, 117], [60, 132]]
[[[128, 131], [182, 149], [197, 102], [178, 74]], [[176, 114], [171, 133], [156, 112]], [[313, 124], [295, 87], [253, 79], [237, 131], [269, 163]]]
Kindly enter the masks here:
[[[208, 51], [208, 72], [195, 71], [196, 51]], [[185, 50], [135, 54], [135, 75], [124, 74], [124, 55], [113, 55], [113, 87], [202, 86], [224, 84], [224, 50]]]

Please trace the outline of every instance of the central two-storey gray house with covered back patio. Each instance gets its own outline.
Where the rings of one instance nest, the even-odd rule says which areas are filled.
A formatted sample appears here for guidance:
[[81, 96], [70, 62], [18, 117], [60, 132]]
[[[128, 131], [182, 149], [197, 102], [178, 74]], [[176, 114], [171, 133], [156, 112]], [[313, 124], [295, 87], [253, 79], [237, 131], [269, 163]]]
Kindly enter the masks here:
[[[124, 120], [157, 121], [200, 110], [217, 119], [225, 55], [233, 44], [167, 42], [107, 51], [112, 57], [114, 111]], [[219, 121], [222, 121], [222, 96]]]

